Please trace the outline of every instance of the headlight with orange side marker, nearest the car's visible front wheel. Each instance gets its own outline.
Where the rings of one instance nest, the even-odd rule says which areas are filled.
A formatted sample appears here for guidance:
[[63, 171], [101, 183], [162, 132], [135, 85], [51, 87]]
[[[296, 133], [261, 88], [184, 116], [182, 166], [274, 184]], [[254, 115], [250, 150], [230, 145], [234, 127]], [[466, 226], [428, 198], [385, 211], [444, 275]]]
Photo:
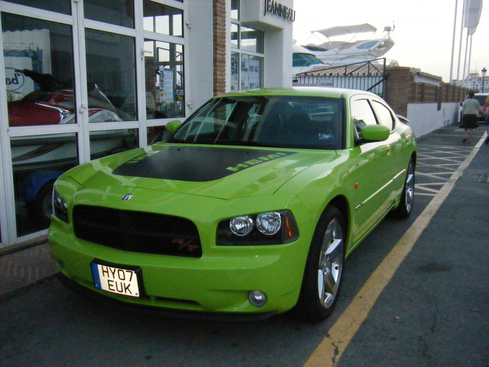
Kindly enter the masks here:
[[221, 221], [218, 246], [279, 245], [295, 241], [299, 231], [289, 210], [243, 215]]

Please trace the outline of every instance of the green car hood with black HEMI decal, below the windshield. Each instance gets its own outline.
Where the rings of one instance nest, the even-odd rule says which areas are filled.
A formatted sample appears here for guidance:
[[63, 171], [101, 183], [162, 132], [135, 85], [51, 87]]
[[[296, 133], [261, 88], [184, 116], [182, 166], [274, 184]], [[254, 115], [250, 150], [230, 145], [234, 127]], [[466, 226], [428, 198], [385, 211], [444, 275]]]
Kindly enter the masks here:
[[[232, 199], [274, 193], [335, 151], [155, 144], [68, 172], [90, 186], [128, 186]], [[85, 168], [84, 168], [85, 167]]]

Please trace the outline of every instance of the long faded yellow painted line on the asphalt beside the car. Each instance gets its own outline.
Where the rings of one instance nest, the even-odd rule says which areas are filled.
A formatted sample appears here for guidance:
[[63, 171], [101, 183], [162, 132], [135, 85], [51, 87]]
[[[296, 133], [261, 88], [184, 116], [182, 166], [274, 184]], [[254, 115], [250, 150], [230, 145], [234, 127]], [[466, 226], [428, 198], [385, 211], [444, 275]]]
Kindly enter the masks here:
[[385, 286], [390, 282], [392, 276], [400, 264], [411, 251], [422, 231], [428, 226], [431, 218], [440, 208], [446, 197], [453, 189], [455, 183], [462, 175], [464, 169], [472, 161], [475, 154], [482, 145], [486, 134], [472, 149], [467, 158], [460, 164], [457, 170], [448, 179], [423, 212], [416, 218], [414, 223], [400, 238], [399, 242], [382, 260], [377, 269], [372, 273], [363, 285], [348, 308], [339, 319], [328, 330], [327, 337], [317, 346], [314, 353], [309, 357], [304, 367], [333, 367], [336, 366], [341, 354], [346, 349], [356, 331], [367, 318], [371, 308], [374, 306], [378, 296]]

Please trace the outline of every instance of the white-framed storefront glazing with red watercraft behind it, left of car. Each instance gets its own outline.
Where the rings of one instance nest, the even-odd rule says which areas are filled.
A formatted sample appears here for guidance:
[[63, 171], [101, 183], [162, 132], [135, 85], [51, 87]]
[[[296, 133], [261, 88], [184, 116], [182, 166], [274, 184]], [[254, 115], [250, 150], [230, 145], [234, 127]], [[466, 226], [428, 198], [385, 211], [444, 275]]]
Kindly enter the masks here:
[[163, 141], [165, 124], [186, 112], [183, 0], [9, 2], [25, 6], [12, 14], [0, 1], [7, 150], [0, 155], [11, 155], [2, 169], [13, 177], [0, 193], [9, 213], [1, 234], [12, 244], [46, 233], [52, 185], [63, 172]]

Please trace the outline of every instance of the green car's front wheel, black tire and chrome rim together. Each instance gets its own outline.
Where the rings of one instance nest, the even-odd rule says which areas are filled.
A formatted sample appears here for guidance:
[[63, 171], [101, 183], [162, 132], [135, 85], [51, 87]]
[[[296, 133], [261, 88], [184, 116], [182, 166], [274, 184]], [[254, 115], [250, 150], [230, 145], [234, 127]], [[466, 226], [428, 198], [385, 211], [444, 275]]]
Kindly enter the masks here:
[[346, 225], [336, 206], [328, 206], [314, 231], [306, 262], [296, 314], [308, 321], [322, 321], [338, 300], [345, 258]]

